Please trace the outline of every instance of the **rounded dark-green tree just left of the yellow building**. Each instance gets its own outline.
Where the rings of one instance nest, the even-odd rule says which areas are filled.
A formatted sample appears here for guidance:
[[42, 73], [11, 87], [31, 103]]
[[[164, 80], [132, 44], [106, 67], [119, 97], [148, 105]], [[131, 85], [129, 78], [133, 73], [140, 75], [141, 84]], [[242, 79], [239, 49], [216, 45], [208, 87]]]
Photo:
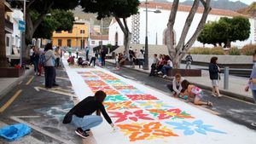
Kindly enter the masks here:
[[[38, 13], [32, 12], [32, 20], [38, 19]], [[55, 31], [70, 31], [73, 29], [73, 13], [71, 11], [54, 9], [48, 16], [45, 16], [33, 34], [34, 38], [52, 37]]]

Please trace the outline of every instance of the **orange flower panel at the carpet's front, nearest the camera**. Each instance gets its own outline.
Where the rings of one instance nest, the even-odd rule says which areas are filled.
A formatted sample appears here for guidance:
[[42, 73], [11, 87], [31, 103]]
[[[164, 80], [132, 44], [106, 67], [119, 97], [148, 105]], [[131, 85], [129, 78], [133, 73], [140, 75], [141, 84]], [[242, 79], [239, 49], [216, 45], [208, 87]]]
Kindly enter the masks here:
[[172, 130], [162, 126], [160, 122], [152, 122], [148, 124], [118, 124], [117, 126], [121, 131], [125, 132], [125, 135], [130, 135], [130, 141], [178, 136], [177, 134], [174, 134]]

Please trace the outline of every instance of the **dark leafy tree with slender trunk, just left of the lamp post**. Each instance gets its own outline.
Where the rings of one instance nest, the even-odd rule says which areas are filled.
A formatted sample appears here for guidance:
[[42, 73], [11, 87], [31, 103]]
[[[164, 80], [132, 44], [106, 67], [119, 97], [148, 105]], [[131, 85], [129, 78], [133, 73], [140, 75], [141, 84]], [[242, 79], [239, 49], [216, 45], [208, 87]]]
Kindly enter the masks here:
[[80, 5], [84, 12], [97, 13], [97, 19], [113, 16], [117, 20], [125, 35], [125, 53], [131, 44], [131, 32], [127, 26], [126, 18], [138, 13], [139, 0], [81, 0]]

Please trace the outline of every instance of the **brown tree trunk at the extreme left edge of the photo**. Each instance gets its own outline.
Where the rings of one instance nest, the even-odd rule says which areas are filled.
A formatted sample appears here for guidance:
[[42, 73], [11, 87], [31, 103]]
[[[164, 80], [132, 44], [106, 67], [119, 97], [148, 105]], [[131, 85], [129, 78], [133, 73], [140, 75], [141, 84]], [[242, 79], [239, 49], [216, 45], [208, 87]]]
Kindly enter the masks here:
[[0, 67], [7, 67], [7, 57], [5, 48], [5, 32], [4, 32], [4, 13], [5, 13], [5, 0], [0, 0]]

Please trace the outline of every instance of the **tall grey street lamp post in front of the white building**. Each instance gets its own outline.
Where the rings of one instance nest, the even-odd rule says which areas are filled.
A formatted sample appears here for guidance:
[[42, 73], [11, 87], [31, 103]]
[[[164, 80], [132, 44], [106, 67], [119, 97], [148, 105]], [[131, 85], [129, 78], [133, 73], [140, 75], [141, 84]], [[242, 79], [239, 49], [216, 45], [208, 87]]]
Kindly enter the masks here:
[[148, 70], [148, 12], [154, 12], [155, 14], [160, 14], [161, 11], [156, 9], [154, 11], [148, 10], [148, 0], [146, 0], [146, 37], [145, 37], [145, 54], [144, 54], [144, 70]]

